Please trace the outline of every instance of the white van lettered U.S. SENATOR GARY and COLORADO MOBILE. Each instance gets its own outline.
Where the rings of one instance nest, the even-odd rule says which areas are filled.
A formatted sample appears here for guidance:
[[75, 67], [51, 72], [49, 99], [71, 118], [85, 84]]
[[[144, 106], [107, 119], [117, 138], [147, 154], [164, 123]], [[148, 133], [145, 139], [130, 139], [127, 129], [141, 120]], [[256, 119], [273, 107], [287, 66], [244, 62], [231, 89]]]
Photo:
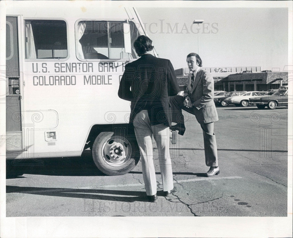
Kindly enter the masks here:
[[117, 91], [125, 64], [138, 58], [133, 42], [146, 31], [135, 8], [76, 2], [6, 7], [6, 157], [80, 156], [90, 148], [103, 173], [125, 174], [140, 156], [130, 102]]

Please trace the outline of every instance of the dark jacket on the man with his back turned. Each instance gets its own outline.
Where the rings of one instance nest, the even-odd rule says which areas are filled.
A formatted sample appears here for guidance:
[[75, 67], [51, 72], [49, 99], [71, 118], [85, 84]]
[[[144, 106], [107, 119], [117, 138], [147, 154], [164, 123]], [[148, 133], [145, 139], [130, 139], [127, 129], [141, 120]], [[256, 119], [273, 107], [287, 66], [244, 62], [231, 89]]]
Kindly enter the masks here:
[[168, 96], [178, 92], [179, 86], [170, 60], [144, 54], [125, 65], [118, 96], [131, 101], [130, 123], [138, 112], [147, 109], [152, 126], [161, 123], [171, 126]]

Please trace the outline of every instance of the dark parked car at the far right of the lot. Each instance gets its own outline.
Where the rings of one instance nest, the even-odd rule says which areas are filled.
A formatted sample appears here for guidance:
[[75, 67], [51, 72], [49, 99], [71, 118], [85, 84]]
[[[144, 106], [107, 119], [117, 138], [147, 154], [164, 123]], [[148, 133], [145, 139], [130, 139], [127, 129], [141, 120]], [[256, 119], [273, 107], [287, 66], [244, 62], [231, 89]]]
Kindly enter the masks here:
[[249, 99], [249, 104], [255, 105], [258, 109], [275, 109], [278, 106], [288, 106], [288, 86], [281, 86], [273, 95], [265, 95]]

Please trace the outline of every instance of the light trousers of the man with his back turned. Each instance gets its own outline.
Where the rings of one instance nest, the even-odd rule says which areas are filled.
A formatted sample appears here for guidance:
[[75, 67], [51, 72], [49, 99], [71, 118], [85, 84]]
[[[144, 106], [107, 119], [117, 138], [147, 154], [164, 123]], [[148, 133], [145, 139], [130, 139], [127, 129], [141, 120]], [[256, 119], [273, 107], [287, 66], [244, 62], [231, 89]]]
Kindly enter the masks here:
[[157, 192], [156, 173], [153, 161], [152, 135], [157, 144], [163, 191], [173, 189], [173, 174], [169, 151], [170, 130], [164, 124], [151, 126], [147, 110], [140, 111], [133, 121], [135, 136], [140, 150], [142, 175], [148, 196]]

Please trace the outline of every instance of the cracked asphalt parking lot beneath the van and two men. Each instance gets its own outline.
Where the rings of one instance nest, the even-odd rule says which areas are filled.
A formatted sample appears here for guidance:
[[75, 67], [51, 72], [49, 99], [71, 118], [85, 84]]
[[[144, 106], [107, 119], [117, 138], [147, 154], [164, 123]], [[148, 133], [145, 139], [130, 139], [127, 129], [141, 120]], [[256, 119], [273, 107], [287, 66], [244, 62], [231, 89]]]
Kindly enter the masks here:
[[219, 175], [204, 177], [202, 131], [185, 114], [185, 135], [170, 148], [177, 194], [162, 194], [155, 144], [157, 203], [145, 201], [140, 162], [128, 174], [105, 176], [86, 151], [16, 166], [23, 175], [7, 174], [6, 216], [287, 216], [287, 107], [217, 111]]

